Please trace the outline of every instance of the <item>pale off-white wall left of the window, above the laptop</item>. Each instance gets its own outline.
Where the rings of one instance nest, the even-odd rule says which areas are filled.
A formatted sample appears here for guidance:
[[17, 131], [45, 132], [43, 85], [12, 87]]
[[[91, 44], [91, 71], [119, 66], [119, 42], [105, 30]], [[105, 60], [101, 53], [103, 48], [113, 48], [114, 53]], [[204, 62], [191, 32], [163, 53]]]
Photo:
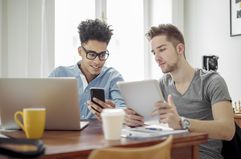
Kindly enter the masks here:
[[54, 0], [2, 1], [2, 76], [47, 76], [54, 64]]

